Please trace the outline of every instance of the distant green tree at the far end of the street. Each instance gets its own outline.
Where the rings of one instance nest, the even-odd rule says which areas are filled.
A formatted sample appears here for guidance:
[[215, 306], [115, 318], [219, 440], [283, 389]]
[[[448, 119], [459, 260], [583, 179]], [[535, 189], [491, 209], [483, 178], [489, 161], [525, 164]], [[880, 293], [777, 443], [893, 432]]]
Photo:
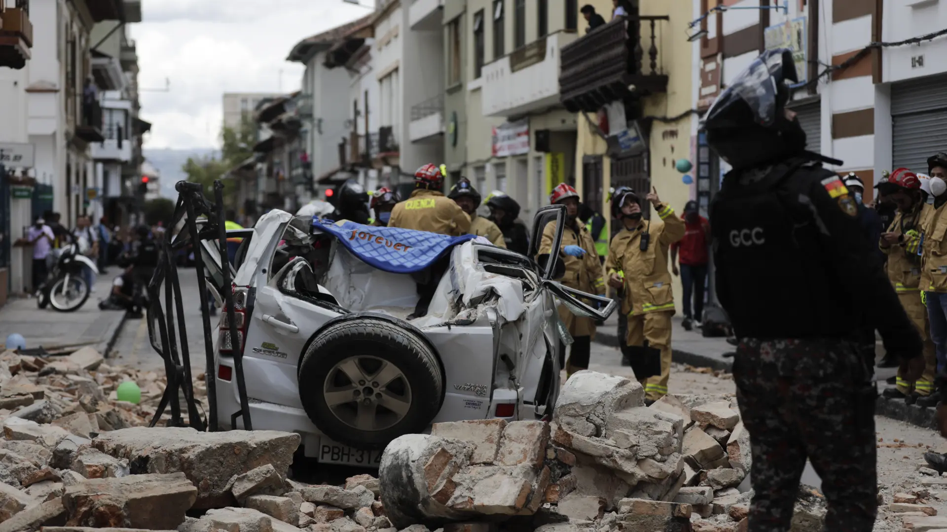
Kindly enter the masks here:
[[188, 181], [200, 183], [205, 197], [213, 200], [214, 180], [220, 179], [223, 183], [223, 204], [229, 208], [238, 208], [235, 204], [237, 184], [229, 172], [253, 155], [256, 131], [256, 123], [247, 116], [243, 117], [237, 129], [224, 126], [221, 130], [220, 156], [215, 153], [207, 157], [188, 157], [188, 162], [182, 167], [188, 174]]

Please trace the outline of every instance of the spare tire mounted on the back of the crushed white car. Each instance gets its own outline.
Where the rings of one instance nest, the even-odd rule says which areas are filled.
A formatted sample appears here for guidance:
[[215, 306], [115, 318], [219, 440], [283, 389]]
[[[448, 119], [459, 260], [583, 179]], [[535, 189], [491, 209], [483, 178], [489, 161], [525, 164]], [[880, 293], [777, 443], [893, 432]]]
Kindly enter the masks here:
[[315, 426], [358, 449], [424, 432], [438, 415], [443, 376], [420, 332], [382, 316], [320, 331], [299, 364], [299, 399]]

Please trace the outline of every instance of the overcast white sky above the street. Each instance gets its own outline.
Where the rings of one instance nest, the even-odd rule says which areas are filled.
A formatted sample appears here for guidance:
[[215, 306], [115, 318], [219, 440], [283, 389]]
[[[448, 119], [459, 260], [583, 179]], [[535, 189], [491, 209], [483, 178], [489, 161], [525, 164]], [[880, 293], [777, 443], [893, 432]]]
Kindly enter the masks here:
[[170, 80], [170, 92], [141, 92], [150, 149], [217, 147], [224, 92], [297, 90], [303, 67], [285, 61], [293, 45], [371, 12], [342, 0], [143, 0], [142, 9], [130, 25], [139, 87]]

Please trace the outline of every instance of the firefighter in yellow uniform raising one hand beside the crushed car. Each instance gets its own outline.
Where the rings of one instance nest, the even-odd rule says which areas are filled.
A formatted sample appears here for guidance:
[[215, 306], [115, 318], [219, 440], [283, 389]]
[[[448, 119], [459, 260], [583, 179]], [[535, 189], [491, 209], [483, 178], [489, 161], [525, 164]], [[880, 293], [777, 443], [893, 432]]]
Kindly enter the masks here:
[[623, 291], [621, 309], [628, 316], [628, 346], [650, 346], [661, 351], [661, 375], [642, 380], [650, 404], [668, 393], [670, 375], [670, 317], [674, 295], [670, 290], [668, 248], [683, 239], [684, 222], [657, 191], [645, 197], [661, 222], [642, 220], [637, 195], [630, 189], [612, 198], [612, 216], [622, 229], [609, 246], [606, 267], [610, 286]]

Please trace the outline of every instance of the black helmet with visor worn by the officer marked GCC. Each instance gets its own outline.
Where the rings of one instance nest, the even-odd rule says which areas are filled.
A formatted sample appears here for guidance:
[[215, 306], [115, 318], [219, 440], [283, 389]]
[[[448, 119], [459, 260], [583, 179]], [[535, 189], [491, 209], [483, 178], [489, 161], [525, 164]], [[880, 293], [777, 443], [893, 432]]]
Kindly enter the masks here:
[[767, 50], [710, 106], [703, 123], [707, 144], [733, 168], [755, 168], [805, 150], [806, 133], [785, 113], [787, 81], [798, 81], [793, 53]]

